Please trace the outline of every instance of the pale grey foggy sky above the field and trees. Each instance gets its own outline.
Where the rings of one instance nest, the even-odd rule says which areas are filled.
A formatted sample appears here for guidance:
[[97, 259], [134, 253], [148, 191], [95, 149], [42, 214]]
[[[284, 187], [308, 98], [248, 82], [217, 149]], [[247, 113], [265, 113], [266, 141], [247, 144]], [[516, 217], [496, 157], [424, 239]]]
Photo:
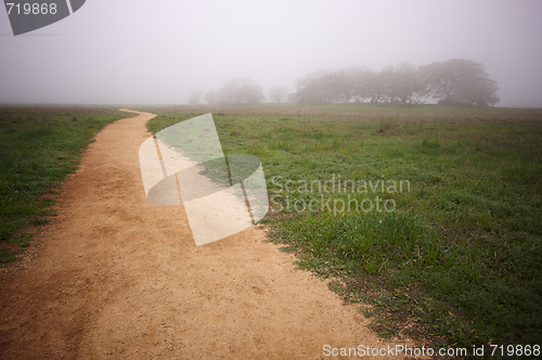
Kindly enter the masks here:
[[499, 106], [542, 107], [541, 16], [539, 0], [87, 0], [14, 37], [0, 7], [0, 103], [185, 103], [238, 76], [268, 95], [319, 68], [462, 57]]

